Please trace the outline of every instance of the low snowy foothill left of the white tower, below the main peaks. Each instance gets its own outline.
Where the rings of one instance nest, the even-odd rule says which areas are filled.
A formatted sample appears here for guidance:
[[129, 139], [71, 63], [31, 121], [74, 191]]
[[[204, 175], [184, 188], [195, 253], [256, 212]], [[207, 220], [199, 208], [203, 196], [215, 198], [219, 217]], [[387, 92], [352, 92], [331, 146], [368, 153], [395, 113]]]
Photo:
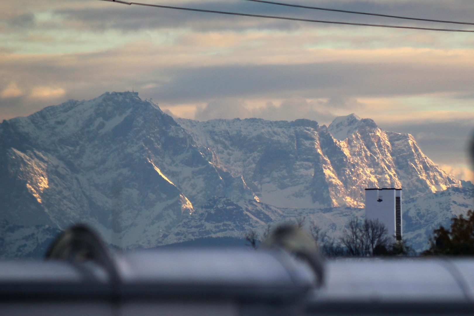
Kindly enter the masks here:
[[260, 235], [268, 227], [293, 222], [304, 218], [308, 229], [316, 225], [331, 236], [341, 235], [346, 223], [353, 217], [364, 217], [363, 208], [276, 208], [274, 206], [246, 200], [235, 203], [227, 198], [211, 200], [193, 216], [186, 218], [172, 229], [165, 243], [177, 243], [201, 237], [244, 238], [249, 230]]

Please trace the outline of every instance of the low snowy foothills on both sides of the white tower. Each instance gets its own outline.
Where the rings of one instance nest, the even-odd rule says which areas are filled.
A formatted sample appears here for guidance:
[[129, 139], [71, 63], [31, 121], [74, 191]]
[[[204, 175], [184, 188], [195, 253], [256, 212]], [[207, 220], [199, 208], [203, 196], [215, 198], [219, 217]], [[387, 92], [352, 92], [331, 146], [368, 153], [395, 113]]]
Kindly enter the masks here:
[[[433, 230], [440, 225], [449, 227], [451, 218], [465, 215], [473, 209], [471, 188], [449, 188], [405, 200], [402, 204], [403, 239], [416, 252], [428, 248]], [[172, 229], [165, 243], [176, 243], [200, 237], [243, 238], [250, 229], [264, 233], [267, 225], [293, 221], [305, 217], [305, 226], [318, 226], [322, 232], [336, 238], [344, 231], [347, 221], [365, 218], [364, 208], [276, 208], [268, 204], [246, 200], [235, 203], [227, 198], [215, 198], [193, 216]]]

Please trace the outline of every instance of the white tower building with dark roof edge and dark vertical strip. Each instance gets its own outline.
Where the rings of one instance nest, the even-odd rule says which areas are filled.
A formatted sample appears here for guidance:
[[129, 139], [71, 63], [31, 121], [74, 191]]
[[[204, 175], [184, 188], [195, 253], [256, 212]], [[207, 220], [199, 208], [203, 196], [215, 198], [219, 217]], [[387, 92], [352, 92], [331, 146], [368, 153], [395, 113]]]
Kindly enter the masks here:
[[365, 218], [378, 219], [389, 236], [401, 240], [401, 189], [365, 189]]

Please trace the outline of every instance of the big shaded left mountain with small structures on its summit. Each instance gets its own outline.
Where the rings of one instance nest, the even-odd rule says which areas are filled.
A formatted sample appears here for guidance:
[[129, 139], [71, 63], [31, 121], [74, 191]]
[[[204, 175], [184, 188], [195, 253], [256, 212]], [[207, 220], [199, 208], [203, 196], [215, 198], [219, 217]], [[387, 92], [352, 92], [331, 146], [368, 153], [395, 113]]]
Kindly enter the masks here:
[[10, 224], [86, 222], [123, 247], [159, 243], [215, 195], [253, 197], [172, 117], [130, 92], [4, 121], [0, 192]]

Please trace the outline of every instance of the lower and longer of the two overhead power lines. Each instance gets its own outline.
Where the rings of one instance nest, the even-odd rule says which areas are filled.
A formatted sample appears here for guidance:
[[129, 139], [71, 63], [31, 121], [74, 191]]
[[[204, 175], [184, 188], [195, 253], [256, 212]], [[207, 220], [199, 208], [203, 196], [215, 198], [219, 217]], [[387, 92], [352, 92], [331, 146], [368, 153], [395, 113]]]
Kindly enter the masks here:
[[226, 12], [226, 11], [216, 11], [216, 10], [206, 10], [206, 9], [192, 9], [192, 8], [173, 7], [173, 6], [162, 6], [162, 5], [158, 5], [158, 4], [149, 4], [149, 3], [141, 3], [141, 2], [128, 2], [128, 1], [121, 1], [121, 0], [101, 0], [101, 1], [118, 2], [118, 3], [128, 4], [128, 5], [134, 4], [134, 5], [137, 5], [137, 6], [155, 7], [155, 8], [164, 8], [164, 9], [176, 9], [176, 10], [185, 10], [185, 11], [227, 14], [227, 15], [252, 17], [252, 18], [274, 18], [274, 19], [280, 19], [280, 20], [313, 22], [313, 23], [326, 23], [326, 24], [339, 24], [339, 25], [355, 25], [355, 26], [363, 26], [363, 27], [389, 27], [389, 28], [407, 28], [407, 29], [428, 30], [428, 31], [474, 33], [474, 30], [461, 30], [461, 29], [450, 29], [450, 28], [432, 28], [432, 27], [404, 27], [404, 26], [385, 25], [385, 24], [366, 24], [366, 23], [352, 23], [352, 22], [338, 22], [338, 21], [323, 21], [323, 20], [313, 20], [313, 19], [308, 19], [308, 18], [288, 18], [288, 17], [278, 17], [278, 16], [261, 15], [261, 14], [249, 14], [249, 13]]

